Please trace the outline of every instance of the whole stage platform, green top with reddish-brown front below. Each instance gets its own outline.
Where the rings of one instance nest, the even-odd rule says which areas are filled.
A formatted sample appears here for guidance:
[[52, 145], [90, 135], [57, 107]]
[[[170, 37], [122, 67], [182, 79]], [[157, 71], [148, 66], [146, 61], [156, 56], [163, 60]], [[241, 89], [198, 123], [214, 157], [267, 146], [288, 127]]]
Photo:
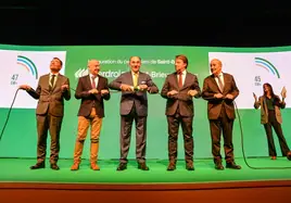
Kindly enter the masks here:
[[195, 160], [193, 172], [186, 170], [184, 161], [178, 161], [176, 170], [167, 172], [168, 163], [162, 160], [149, 160], [148, 172], [138, 169], [135, 161], [128, 163], [128, 169], [116, 172], [118, 161], [111, 160], [99, 161], [99, 172], [91, 170], [86, 160], [77, 172], [69, 170], [72, 160], [60, 160], [60, 170], [50, 169], [49, 162], [45, 169], [30, 170], [35, 158], [0, 158], [0, 196], [3, 203], [291, 201], [291, 161], [246, 161], [252, 167], [269, 169], [252, 169], [237, 158], [242, 169], [216, 170], [213, 161], [205, 158]]

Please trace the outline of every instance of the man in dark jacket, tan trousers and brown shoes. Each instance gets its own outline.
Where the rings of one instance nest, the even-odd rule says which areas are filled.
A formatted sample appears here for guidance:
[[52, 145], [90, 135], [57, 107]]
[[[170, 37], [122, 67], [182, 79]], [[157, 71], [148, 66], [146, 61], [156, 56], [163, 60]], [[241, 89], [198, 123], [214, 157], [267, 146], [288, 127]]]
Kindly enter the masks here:
[[81, 99], [78, 112], [78, 135], [74, 151], [74, 164], [71, 170], [79, 169], [84, 142], [87, 137], [89, 126], [91, 126], [90, 143], [90, 167], [99, 170], [97, 164], [99, 151], [99, 136], [104, 117], [104, 102], [110, 100], [107, 79], [99, 75], [100, 62], [91, 60], [88, 62], [89, 75], [80, 77], [78, 80], [75, 98]]

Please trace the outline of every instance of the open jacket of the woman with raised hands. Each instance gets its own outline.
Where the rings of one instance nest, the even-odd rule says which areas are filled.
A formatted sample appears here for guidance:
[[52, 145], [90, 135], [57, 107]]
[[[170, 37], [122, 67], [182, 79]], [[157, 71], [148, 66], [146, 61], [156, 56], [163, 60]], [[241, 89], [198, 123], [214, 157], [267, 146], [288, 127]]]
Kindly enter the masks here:
[[[254, 107], [258, 109], [261, 106], [261, 124], [267, 124], [268, 123], [268, 107], [267, 107], [267, 102], [266, 102], [266, 97], [261, 96], [257, 100], [257, 102], [254, 103]], [[282, 116], [281, 116], [281, 111], [280, 109], [284, 109], [286, 103], [284, 101], [281, 101], [278, 96], [275, 96], [275, 115], [276, 119], [279, 124], [282, 123]]]

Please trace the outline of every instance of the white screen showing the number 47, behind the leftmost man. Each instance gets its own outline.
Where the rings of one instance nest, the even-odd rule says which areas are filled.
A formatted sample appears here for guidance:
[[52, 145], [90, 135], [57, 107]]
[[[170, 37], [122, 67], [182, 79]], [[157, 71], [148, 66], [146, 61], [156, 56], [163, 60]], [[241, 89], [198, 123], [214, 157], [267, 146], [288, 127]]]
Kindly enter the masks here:
[[[29, 85], [36, 89], [41, 75], [50, 73], [50, 62], [59, 58], [63, 62], [61, 74], [65, 71], [65, 51], [11, 51], [0, 50], [1, 86], [4, 92], [0, 99], [0, 107], [10, 107], [20, 85]], [[35, 109], [37, 100], [20, 90], [13, 104], [15, 109]]]

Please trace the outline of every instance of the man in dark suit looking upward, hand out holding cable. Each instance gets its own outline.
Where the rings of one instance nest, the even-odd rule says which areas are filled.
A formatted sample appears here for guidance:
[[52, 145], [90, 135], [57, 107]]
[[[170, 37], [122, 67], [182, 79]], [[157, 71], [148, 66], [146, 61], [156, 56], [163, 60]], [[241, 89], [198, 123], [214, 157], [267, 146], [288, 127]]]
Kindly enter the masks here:
[[47, 153], [48, 130], [51, 136], [50, 164], [52, 169], [60, 169], [56, 165], [60, 153], [60, 132], [64, 116], [64, 99], [71, 99], [69, 80], [60, 74], [62, 61], [53, 58], [50, 64], [50, 74], [39, 78], [37, 89], [34, 90], [27, 85], [20, 86], [34, 99], [38, 100], [37, 115], [37, 164], [31, 169], [45, 168]]

